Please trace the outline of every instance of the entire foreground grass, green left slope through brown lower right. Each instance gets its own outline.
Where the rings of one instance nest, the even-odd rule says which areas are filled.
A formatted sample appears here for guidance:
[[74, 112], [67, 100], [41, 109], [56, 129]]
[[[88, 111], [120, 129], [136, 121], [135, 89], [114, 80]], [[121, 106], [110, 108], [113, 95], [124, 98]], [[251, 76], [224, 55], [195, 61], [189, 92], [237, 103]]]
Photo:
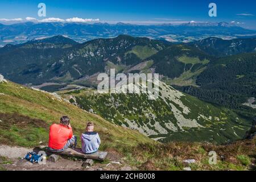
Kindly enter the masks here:
[[[24, 147], [47, 144], [49, 125], [58, 122], [62, 115], [69, 115], [76, 135], [84, 130], [86, 121], [93, 121], [102, 139], [100, 150], [118, 152], [138, 169], [183, 170], [187, 167], [182, 162], [184, 159], [196, 160], [189, 165], [192, 170], [254, 169], [255, 139], [228, 146], [194, 142], [161, 144], [81, 110], [62, 98], [13, 82], [0, 84], [0, 110], [0, 144]], [[208, 163], [208, 152], [212, 150], [218, 155], [216, 165]], [[0, 170], [5, 163], [0, 156]]]

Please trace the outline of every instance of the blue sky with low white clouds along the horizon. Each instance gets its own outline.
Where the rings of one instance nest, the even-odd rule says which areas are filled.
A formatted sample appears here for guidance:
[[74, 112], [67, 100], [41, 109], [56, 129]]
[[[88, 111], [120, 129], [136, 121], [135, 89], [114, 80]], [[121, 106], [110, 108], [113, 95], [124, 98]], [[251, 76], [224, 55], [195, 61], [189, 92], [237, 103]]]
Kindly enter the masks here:
[[[38, 16], [38, 4], [46, 5], [46, 17]], [[208, 15], [209, 3], [216, 3], [217, 17]], [[179, 24], [233, 22], [256, 30], [255, 0], [1, 0], [0, 22], [107, 22], [132, 24]]]

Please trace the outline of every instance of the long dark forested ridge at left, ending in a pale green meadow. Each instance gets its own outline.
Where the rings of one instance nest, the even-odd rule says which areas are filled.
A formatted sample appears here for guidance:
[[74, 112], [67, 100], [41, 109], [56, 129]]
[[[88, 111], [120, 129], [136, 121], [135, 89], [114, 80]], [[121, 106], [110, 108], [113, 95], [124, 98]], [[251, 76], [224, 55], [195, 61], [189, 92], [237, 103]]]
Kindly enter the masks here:
[[162, 41], [125, 35], [83, 44], [57, 36], [3, 47], [0, 72], [21, 84], [71, 82], [105, 72], [108, 65], [122, 68], [140, 63], [164, 47]]

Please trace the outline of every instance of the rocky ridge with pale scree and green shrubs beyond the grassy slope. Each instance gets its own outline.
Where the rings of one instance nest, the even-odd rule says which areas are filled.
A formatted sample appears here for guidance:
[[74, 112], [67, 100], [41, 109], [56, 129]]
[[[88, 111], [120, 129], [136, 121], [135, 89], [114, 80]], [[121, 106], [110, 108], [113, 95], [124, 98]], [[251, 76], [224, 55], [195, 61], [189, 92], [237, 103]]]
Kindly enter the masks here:
[[60, 91], [82, 109], [129, 127], [160, 142], [172, 140], [226, 143], [242, 139], [250, 123], [232, 110], [200, 101], [160, 82], [159, 98], [147, 94], [99, 94], [84, 89]]

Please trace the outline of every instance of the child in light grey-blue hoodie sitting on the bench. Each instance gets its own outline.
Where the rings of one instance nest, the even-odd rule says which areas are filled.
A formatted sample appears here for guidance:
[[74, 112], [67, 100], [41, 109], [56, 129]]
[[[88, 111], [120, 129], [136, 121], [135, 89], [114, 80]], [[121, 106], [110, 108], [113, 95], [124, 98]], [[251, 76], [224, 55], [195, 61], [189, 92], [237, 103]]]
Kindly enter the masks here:
[[86, 132], [81, 135], [82, 152], [85, 154], [93, 154], [98, 151], [101, 144], [100, 136], [94, 132], [94, 123], [88, 122]]

